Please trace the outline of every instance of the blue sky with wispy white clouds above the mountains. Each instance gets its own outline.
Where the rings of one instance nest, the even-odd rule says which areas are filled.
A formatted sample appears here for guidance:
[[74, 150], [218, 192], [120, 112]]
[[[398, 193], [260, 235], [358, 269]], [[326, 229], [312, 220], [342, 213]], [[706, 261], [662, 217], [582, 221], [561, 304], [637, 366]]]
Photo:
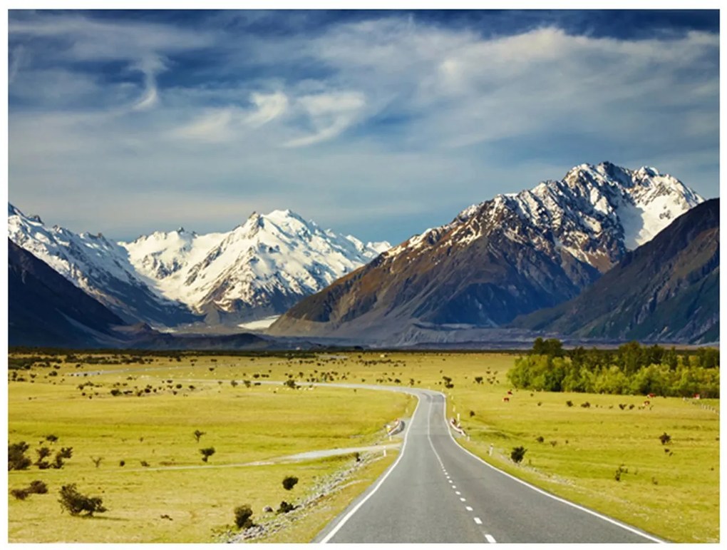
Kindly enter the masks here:
[[719, 195], [719, 13], [9, 11], [8, 194], [131, 240], [291, 209], [395, 244], [611, 161]]

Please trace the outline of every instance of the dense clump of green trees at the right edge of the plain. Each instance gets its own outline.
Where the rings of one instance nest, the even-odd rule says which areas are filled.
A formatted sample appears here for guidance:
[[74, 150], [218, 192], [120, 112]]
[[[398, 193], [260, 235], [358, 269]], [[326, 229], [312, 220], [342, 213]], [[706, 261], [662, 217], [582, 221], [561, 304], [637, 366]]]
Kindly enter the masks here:
[[507, 378], [517, 388], [541, 391], [719, 397], [719, 352], [685, 354], [638, 342], [617, 350], [566, 351], [560, 340], [538, 338]]

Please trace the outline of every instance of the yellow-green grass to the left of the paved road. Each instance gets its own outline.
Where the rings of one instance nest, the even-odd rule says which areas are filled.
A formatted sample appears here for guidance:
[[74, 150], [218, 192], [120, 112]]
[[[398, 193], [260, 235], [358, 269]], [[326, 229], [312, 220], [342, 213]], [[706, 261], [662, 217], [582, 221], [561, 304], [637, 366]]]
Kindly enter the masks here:
[[[206, 364], [182, 364], [183, 369], [170, 371], [168, 363], [166, 359], [158, 362], [164, 380], [174, 380], [177, 395], [166, 382], [160, 389], [161, 371], [121, 370], [148, 368], [148, 364], [82, 364], [79, 369], [64, 364], [57, 376], [49, 376], [53, 369], [35, 367], [20, 373], [27, 381], [9, 382], [9, 442], [30, 443], [28, 455], [33, 458], [49, 434], [58, 441], [42, 445], [73, 447], [73, 458], [63, 469], [41, 471], [31, 466], [27, 471], [9, 472], [10, 489], [35, 479], [49, 487], [48, 494], [31, 495], [25, 501], [9, 497], [9, 541], [211, 541], [215, 530], [233, 522], [235, 506], [249, 503], [254, 519], [260, 521], [266, 516], [264, 506], [277, 508], [283, 500], [300, 499], [321, 477], [354, 459], [348, 455], [305, 463], [234, 465], [309, 450], [370, 445], [382, 436], [385, 423], [411, 414], [414, 408], [409, 396], [378, 391], [294, 390], [280, 385], [246, 388], [242, 384], [233, 388], [230, 380], [237, 376], [228, 372], [225, 378], [221, 371], [238, 374], [238, 369], [220, 367], [219, 372], [211, 372]], [[107, 368], [116, 372], [71, 376]], [[167, 378], [169, 372], [174, 372], [173, 378]], [[36, 375], [33, 383], [31, 374]], [[129, 376], [135, 379], [127, 380]], [[176, 390], [182, 380], [184, 391]], [[89, 381], [97, 386], [78, 388]], [[128, 384], [119, 386], [122, 389], [149, 384], [157, 393], [112, 396], [114, 383]], [[206, 432], [200, 442], [193, 436], [196, 429]], [[201, 447], [216, 450], [206, 464], [201, 461]], [[103, 460], [96, 467], [92, 458], [98, 457]], [[392, 458], [389, 453], [385, 461], [377, 461], [356, 477], [369, 479], [371, 472]], [[125, 465], [120, 466], [120, 461]], [[142, 466], [142, 461], [148, 466]], [[300, 479], [291, 492], [281, 485], [289, 474]], [[76, 483], [81, 493], [102, 497], [108, 511], [93, 518], [61, 514], [57, 492], [68, 483]], [[313, 530], [322, 528], [366, 485], [355, 483], [335, 493], [326, 506], [315, 506], [313, 514], [278, 536], [310, 540], [316, 534]]]

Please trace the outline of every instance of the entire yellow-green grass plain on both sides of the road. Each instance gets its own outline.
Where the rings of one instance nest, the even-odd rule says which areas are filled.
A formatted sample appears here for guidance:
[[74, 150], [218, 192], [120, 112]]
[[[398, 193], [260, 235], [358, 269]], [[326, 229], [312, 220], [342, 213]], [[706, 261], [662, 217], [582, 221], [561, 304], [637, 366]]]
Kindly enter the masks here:
[[[37, 443], [54, 433], [60, 438], [56, 445], [72, 445], [74, 455], [59, 471], [10, 472], [9, 486], [51, 479], [55, 493], [60, 483], [75, 481], [79, 489], [103, 496], [109, 511], [98, 519], [71, 518], [58, 514], [52, 495], [32, 495], [22, 502], [9, 498], [10, 540], [209, 541], [212, 530], [232, 521], [234, 506], [249, 502], [257, 516], [262, 506], [277, 506], [289, 497], [280, 483], [284, 475], [300, 477], [293, 493], [302, 495], [312, 490], [315, 479], [351, 459], [212, 466], [369, 445], [383, 423], [406, 415], [407, 407], [411, 414], [414, 407], [411, 399], [390, 392], [230, 384], [233, 379], [254, 384], [292, 377], [303, 387], [315, 378], [444, 391], [449, 416], [459, 413], [470, 434], [463, 444], [495, 466], [670, 541], [718, 541], [718, 401], [710, 402], [708, 410], [677, 398], [658, 397], [644, 407], [643, 396], [529, 391], [508, 396], [512, 388], [505, 373], [513, 359], [476, 353], [199, 356], [181, 362], [156, 358], [151, 364], [63, 364], [55, 377], [48, 376], [48, 368], [35, 367], [35, 383], [9, 383], [10, 441]], [[95, 370], [113, 372], [71, 376]], [[22, 375], [28, 378], [26, 371]], [[453, 387], [444, 387], [445, 376]], [[475, 383], [477, 376], [482, 383]], [[88, 381], [103, 387], [87, 386], [82, 390], [87, 395], [81, 396], [78, 386]], [[114, 383], [127, 384], [116, 386], [120, 391], [143, 392], [147, 386], [150, 391], [141, 397], [113, 397]], [[582, 407], [585, 402], [590, 407]], [[195, 429], [207, 432], [199, 444], [192, 435]], [[671, 437], [667, 445], [659, 440], [664, 432]], [[515, 465], [510, 451], [520, 445], [527, 452], [523, 463]], [[217, 452], [204, 465], [198, 449], [208, 446]], [[104, 458], [98, 469], [91, 461], [97, 456]], [[122, 459], [124, 468], [119, 467]], [[140, 461], [149, 468], [139, 466]], [[387, 463], [390, 457], [373, 463], [361, 472], [361, 480], [372, 481]], [[164, 465], [204, 467], [151, 470]], [[268, 540], [309, 541], [365, 486], [354, 480], [316, 514]], [[148, 511], [150, 503], [155, 503], [153, 511]], [[161, 514], [174, 520], [161, 520]]]

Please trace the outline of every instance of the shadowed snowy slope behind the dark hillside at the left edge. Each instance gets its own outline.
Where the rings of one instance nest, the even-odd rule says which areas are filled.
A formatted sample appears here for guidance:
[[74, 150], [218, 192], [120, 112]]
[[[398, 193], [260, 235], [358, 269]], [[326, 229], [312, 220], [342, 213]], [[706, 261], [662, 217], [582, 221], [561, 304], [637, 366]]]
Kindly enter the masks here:
[[150, 288], [129, 263], [124, 247], [102, 234], [47, 228], [38, 216], [26, 216], [8, 204], [8, 236], [127, 322], [165, 325], [195, 319], [186, 306]]

